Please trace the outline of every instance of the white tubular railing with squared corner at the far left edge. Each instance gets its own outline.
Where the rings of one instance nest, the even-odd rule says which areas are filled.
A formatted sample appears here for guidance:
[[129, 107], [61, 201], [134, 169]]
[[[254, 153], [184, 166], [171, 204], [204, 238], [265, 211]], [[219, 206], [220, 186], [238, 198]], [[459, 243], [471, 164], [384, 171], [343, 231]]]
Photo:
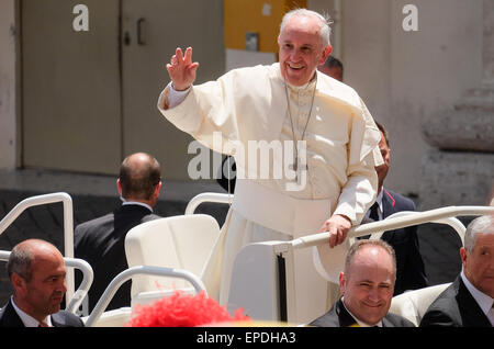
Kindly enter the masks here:
[[[67, 193], [50, 193], [44, 195], [36, 195], [24, 199], [18, 203], [1, 221], [0, 221], [0, 235], [21, 215], [26, 209], [45, 205], [50, 203], [61, 202], [64, 204], [64, 248], [65, 257], [74, 257], [74, 212], [72, 212], [72, 198]], [[74, 269], [67, 270], [66, 275], [67, 292], [66, 303], [74, 296], [75, 280]]]

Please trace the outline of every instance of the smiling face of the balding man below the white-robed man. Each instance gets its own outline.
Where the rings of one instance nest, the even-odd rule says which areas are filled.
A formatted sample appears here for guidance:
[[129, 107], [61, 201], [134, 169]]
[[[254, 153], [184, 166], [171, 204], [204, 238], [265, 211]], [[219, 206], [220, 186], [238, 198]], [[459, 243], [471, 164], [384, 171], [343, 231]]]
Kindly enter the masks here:
[[390, 309], [395, 273], [390, 254], [380, 246], [363, 246], [353, 257], [339, 288], [345, 306], [368, 325], [378, 324]]

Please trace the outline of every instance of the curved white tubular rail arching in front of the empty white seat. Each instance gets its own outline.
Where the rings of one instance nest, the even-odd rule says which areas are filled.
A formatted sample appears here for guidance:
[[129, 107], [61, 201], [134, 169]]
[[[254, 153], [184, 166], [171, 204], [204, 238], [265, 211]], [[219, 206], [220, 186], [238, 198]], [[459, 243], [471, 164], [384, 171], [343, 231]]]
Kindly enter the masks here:
[[106, 309], [106, 306], [110, 304], [110, 301], [113, 299], [120, 286], [127, 280], [131, 280], [132, 277], [136, 274], [149, 274], [157, 277], [186, 279], [193, 285], [193, 288], [198, 293], [204, 291], [207, 294], [206, 289], [202, 283], [202, 281], [190, 271], [175, 268], [153, 267], [153, 266], [132, 267], [122, 271], [120, 274], [113, 278], [110, 284], [106, 286], [103, 294], [99, 299], [97, 305], [94, 306], [88, 319], [86, 320], [87, 327], [91, 327], [101, 317], [101, 315]]

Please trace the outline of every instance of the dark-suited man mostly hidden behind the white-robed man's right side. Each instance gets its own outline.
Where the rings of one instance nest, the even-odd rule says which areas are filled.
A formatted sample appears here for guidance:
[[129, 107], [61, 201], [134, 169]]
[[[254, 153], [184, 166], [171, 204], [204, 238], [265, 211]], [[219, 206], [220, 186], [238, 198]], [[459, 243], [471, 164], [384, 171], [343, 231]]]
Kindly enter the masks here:
[[[381, 221], [401, 211], [415, 211], [415, 203], [383, 187], [384, 179], [390, 169], [391, 149], [388, 132], [380, 123], [375, 123], [381, 131], [379, 148], [384, 164], [378, 166], [378, 196], [367, 216], [373, 221]], [[427, 286], [424, 261], [418, 248], [417, 226], [408, 226], [395, 230], [384, 232], [381, 239], [390, 244], [396, 254], [396, 284], [394, 295], [407, 290], [416, 290]]]

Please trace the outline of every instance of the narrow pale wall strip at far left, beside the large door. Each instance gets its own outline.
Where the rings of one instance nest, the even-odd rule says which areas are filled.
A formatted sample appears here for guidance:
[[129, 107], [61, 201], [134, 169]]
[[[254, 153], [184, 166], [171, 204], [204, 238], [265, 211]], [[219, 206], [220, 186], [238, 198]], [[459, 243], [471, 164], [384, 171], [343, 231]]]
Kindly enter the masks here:
[[0, 168], [15, 168], [15, 5], [0, 2]]

